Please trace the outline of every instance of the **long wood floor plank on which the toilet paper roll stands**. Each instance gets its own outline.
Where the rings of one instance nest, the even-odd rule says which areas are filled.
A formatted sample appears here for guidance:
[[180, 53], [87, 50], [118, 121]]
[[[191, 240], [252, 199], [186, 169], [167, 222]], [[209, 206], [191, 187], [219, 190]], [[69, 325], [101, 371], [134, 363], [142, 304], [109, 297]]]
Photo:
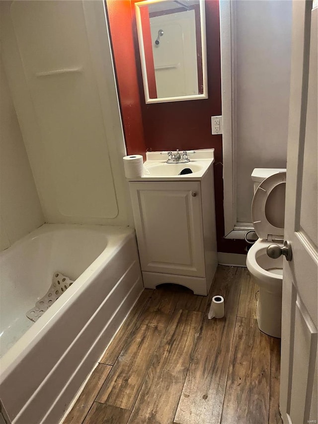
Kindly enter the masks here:
[[175, 423], [220, 423], [242, 270], [243, 268], [218, 267], [212, 295], [220, 294], [224, 297], [225, 318], [204, 318], [175, 415]]

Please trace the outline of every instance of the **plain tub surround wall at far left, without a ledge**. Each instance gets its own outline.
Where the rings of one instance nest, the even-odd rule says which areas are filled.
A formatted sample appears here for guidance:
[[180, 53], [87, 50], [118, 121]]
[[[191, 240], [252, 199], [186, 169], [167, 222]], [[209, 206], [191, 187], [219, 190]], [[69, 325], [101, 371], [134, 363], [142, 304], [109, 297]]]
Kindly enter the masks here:
[[0, 250], [44, 223], [39, 197], [0, 63]]

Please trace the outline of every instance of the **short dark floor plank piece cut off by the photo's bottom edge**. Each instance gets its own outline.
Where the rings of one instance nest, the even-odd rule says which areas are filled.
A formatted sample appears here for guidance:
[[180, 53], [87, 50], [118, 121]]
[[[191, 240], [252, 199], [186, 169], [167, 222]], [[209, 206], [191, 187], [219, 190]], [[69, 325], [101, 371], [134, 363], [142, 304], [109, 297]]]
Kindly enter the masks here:
[[94, 402], [83, 424], [126, 424], [130, 414], [127, 409]]

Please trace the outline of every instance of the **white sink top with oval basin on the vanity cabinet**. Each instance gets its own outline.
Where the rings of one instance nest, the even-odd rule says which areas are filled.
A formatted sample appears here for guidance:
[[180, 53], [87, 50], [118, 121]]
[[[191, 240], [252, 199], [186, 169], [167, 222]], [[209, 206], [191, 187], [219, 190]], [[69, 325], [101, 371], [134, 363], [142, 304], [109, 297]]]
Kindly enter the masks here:
[[[214, 162], [214, 149], [200, 149], [188, 152], [190, 162], [185, 164], [167, 164], [166, 152], [147, 152], [144, 162], [144, 174], [140, 177], [128, 178], [130, 181], [181, 181], [200, 180]], [[182, 170], [190, 169], [191, 173], [180, 175]]]

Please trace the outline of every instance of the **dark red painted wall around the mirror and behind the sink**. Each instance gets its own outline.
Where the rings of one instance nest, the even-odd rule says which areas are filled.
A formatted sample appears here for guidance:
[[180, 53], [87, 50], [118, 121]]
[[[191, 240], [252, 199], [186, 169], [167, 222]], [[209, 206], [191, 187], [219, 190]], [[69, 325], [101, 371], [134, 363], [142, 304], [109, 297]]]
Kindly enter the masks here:
[[127, 151], [214, 148], [218, 252], [243, 254], [245, 242], [224, 239], [222, 135], [211, 134], [222, 113], [219, 1], [205, 2], [209, 98], [155, 104], [145, 103], [134, 2], [106, 0]]

